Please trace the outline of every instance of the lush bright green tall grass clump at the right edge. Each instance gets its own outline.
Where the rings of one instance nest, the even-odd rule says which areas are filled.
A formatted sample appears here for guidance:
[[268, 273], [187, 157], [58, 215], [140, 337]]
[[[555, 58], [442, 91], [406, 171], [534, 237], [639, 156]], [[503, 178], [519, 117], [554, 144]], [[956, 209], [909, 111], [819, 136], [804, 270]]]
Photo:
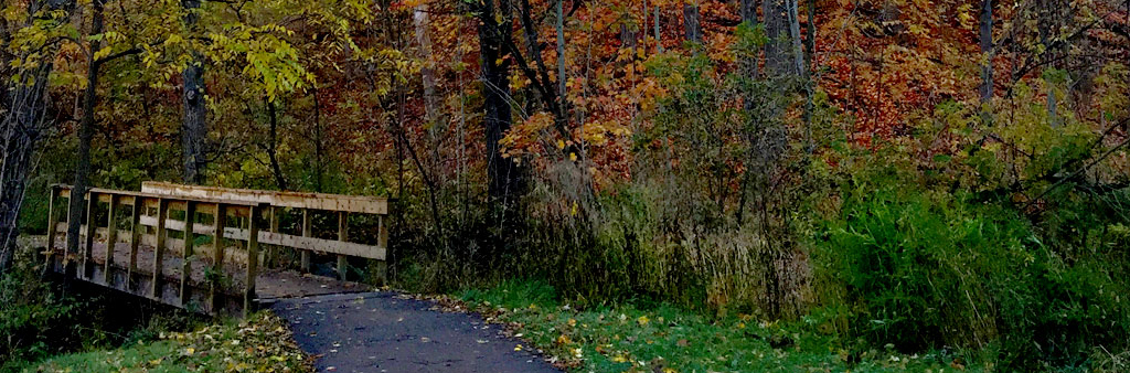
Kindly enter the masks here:
[[1025, 214], [984, 183], [939, 176], [963, 167], [938, 166], [948, 158], [863, 158], [811, 245], [820, 311], [845, 344], [970, 349], [1005, 371], [1125, 366], [1124, 191], [1067, 188]]

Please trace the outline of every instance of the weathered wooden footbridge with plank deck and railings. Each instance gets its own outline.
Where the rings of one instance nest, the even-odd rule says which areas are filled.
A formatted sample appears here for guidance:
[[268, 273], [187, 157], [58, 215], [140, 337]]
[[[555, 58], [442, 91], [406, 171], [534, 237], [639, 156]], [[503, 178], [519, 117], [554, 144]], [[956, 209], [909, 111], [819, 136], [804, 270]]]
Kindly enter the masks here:
[[[350, 263], [384, 278], [383, 198], [160, 182], [71, 191], [51, 188], [46, 268], [168, 305], [238, 315], [279, 298], [366, 290], [348, 281], [358, 268]], [[78, 252], [66, 250], [71, 198], [86, 203]], [[364, 227], [356, 240], [350, 226]], [[315, 258], [328, 257], [337, 278], [312, 274]]]

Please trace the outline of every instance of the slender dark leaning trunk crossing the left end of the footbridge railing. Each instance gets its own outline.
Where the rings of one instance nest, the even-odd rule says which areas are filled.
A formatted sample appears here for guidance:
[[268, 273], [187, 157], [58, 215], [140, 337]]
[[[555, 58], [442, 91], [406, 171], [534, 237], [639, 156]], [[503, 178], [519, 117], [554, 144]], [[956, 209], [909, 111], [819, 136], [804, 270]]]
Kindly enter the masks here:
[[[94, 0], [92, 5], [90, 35], [98, 35], [103, 32], [103, 8], [105, 0]], [[90, 51], [102, 49], [101, 40], [90, 41]], [[75, 182], [71, 189], [70, 208], [67, 217], [67, 252], [78, 252], [78, 236], [82, 224], [82, 214], [86, 211], [86, 196], [90, 179], [90, 141], [94, 139], [95, 107], [98, 103], [98, 69], [102, 62], [94, 59], [94, 54], [87, 55], [86, 92], [82, 96], [82, 120], [78, 128], [78, 165], [75, 167]], [[77, 197], [77, 198], [76, 198]], [[94, 234], [94, 232], [87, 232]]]

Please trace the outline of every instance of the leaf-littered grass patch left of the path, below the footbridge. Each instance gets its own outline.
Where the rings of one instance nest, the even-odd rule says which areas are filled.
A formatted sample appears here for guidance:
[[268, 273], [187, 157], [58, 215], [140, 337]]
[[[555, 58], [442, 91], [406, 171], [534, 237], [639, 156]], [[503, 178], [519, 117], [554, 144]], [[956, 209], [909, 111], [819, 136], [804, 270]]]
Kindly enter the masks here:
[[25, 372], [311, 372], [285, 323], [262, 312], [243, 322], [162, 333], [113, 350], [56, 356]]

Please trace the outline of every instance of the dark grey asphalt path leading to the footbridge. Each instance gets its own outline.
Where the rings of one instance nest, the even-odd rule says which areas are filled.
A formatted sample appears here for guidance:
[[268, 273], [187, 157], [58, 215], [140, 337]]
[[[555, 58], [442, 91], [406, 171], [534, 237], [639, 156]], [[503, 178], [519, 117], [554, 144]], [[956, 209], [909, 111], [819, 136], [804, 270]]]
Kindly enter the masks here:
[[281, 300], [271, 309], [290, 323], [298, 347], [319, 356], [318, 372], [560, 373], [498, 326], [434, 306], [379, 292]]

